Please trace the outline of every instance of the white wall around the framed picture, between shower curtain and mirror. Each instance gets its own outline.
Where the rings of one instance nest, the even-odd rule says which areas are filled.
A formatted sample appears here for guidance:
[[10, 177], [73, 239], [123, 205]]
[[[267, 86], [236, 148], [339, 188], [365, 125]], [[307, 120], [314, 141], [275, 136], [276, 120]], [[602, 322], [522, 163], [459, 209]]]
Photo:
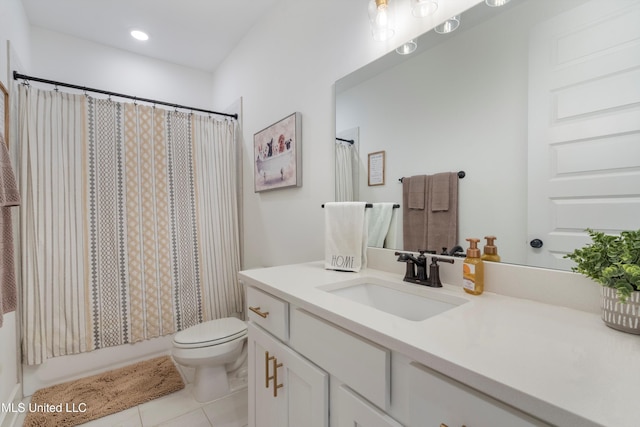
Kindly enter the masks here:
[[[334, 82], [477, 2], [442, 2], [434, 18], [420, 20], [398, 0], [401, 27], [378, 43], [365, 0], [282, 0], [227, 57], [213, 95], [217, 108], [243, 98], [245, 268], [324, 256], [320, 205], [334, 199]], [[256, 194], [253, 134], [294, 111], [302, 113], [302, 187]]]

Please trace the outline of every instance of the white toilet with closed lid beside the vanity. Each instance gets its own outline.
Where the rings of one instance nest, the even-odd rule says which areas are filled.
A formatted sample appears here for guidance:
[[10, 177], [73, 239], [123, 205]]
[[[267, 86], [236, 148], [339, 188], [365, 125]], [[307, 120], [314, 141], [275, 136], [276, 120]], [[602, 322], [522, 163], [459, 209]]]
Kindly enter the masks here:
[[229, 393], [228, 372], [247, 358], [247, 324], [235, 317], [191, 326], [173, 337], [173, 358], [196, 368], [194, 397], [208, 402]]

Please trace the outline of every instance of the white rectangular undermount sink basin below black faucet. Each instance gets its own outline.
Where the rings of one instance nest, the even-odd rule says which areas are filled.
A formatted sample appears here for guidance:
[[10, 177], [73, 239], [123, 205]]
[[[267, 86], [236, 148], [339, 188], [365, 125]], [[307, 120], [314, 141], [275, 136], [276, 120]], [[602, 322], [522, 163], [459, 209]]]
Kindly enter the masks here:
[[396, 284], [373, 277], [325, 286], [322, 289], [359, 304], [414, 321], [428, 319], [467, 302], [463, 298], [441, 293], [435, 289], [416, 289], [409, 284]]

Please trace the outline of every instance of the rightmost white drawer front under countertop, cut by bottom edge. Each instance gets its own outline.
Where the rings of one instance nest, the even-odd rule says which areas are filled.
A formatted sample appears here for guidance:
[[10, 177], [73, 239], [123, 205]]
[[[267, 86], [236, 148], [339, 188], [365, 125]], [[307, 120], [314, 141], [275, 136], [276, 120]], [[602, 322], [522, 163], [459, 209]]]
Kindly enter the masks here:
[[416, 362], [410, 364], [410, 426], [547, 426], [524, 412]]

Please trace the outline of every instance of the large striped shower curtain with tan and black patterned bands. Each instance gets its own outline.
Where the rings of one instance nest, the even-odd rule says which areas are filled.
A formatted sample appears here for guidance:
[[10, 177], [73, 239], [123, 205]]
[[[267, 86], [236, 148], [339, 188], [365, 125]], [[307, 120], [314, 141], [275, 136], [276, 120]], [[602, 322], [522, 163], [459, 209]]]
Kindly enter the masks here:
[[23, 357], [243, 310], [236, 122], [19, 87]]

